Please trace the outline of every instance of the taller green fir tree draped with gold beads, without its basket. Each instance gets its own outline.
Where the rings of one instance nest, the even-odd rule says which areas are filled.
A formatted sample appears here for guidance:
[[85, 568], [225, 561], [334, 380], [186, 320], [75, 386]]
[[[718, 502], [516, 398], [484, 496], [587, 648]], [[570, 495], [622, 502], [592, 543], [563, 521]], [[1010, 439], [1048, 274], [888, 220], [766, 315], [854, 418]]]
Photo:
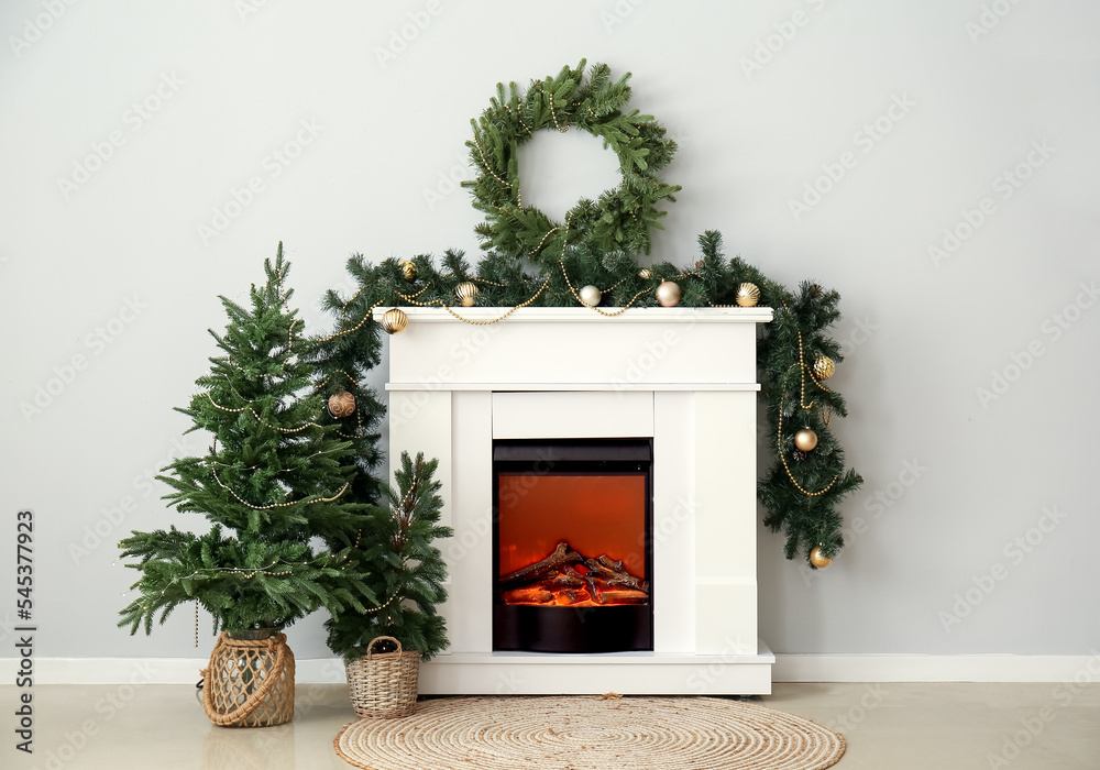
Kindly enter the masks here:
[[212, 435], [209, 452], [157, 476], [173, 487], [165, 499], [177, 510], [213, 526], [204, 535], [135, 531], [120, 543], [142, 573], [133, 585], [140, 595], [119, 622], [131, 634], [142, 625], [150, 634], [154, 615], [163, 624], [190, 601], [213, 616], [216, 631], [230, 632], [285, 627], [322, 606], [340, 613], [375, 604], [350, 558], [363, 508], [348, 502], [350, 443], [318, 424], [322, 395], [309, 384], [314, 369], [284, 288], [282, 243], [264, 270], [251, 309], [221, 297], [229, 326], [210, 333], [224, 354], [210, 359], [210, 373], [196, 381], [201, 391], [177, 409], [194, 420], [190, 430]]

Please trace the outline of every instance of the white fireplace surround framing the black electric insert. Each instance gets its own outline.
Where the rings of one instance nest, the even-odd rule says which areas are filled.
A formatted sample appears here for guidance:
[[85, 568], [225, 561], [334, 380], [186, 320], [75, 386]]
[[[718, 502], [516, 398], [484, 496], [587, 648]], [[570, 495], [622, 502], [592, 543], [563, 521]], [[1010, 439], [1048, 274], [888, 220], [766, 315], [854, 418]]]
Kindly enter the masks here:
[[[442, 522], [454, 529], [439, 543], [451, 645], [421, 668], [420, 692], [769, 693], [756, 338], [771, 310], [521, 308], [488, 326], [404, 310], [407, 330], [389, 338], [389, 452], [439, 460]], [[455, 312], [488, 321], [505, 310]], [[494, 441], [525, 439], [651, 441], [652, 649], [494, 651]]]

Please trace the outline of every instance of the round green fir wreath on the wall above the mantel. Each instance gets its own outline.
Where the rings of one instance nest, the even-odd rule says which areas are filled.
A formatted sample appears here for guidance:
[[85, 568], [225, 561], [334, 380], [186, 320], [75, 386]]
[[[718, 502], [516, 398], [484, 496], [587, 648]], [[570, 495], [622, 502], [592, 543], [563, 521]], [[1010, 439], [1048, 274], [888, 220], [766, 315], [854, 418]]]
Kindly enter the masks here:
[[[515, 82], [497, 84], [496, 98], [481, 118], [471, 120], [466, 142], [477, 178], [463, 182], [473, 191], [474, 208], [485, 213], [475, 228], [482, 246], [538, 262], [556, 263], [566, 245], [586, 244], [600, 251], [649, 253], [650, 228], [661, 228], [662, 200], [674, 201], [679, 185], [664, 184], [657, 173], [676, 151], [652, 116], [624, 112], [630, 100], [627, 73], [613, 81], [605, 64], [584, 77], [585, 59], [562, 67], [557, 77], [531, 81], [526, 95]], [[534, 206], [524, 206], [519, 189], [519, 147], [536, 131], [571, 128], [604, 141], [619, 160], [623, 183], [605, 190], [598, 201], [579, 200], [564, 222], [556, 222]], [[546, 258], [540, 255], [547, 254]]]

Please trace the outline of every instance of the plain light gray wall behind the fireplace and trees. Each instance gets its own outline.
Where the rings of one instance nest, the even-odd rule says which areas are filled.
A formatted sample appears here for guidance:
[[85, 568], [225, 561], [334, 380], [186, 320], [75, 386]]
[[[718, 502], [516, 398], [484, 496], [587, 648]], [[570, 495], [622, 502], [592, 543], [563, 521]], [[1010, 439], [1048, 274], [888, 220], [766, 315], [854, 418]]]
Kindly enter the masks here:
[[[64, 10], [52, 19], [51, 7]], [[693, 260], [697, 234], [716, 228], [777, 279], [844, 296], [850, 355], [832, 382], [851, 407], [837, 432], [866, 479], [845, 512], [857, 529], [813, 575], [760, 536], [765, 639], [807, 653], [1088, 652], [1100, 637], [1100, 10], [985, 8], [3, 3], [0, 542], [18, 509], [34, 510], [37, 653], [206, 654], [208, 625], [196, 651], [190, 608], [150, 639], [114, 628], [133, 574], [114, 543], [201, 521], [166, 512], [144, 476], [188, 426], [172, 407], [207, 369], [206, 329], [224, 326], [216, 295], [260, 280], [283, 240], [317, 330], [328, 319], [315, 302], [345, 282], [349, 253], [475, 254], [479, 216], [449, 180], [470, 173], [469, 120], [498, 80], [582, 56], [632, 72], [632, 105], [680, 143], [666, 177], [684, 189], [654, 255]], [[63, 190], [112, 134], [110, 157]], [[310, 143], [273, 164], [296, 136]], [[556, 140], [532, 150], [583, 150]], [[829, 186], [845, 160], [795, 216], [790, 201], [823, 175]], [[564, 206], [614, 184], [614, 163], [609, 179], [562, 163], [560, 184], [579, 186], [525, 179], [530, 199], [553, 187]], [[1007, 186], [1018, 167], [1030, 178]], [[205, 242], [199, 226], [253, 177], [262, 190]], [[979, 224], [966, 212], [983, 200]], [[937, 261], [945, 229], [966, 238]], [[75, 356], [84, 367], [70, 372]], [[24, 416], [57, 372], [72, 382]], [[1011, 382], [994, 388], [994, 376]], [[0, 574], [13, 574], [12, 551], [0, 547]], [[13, 610], [9, 586], [0, 617]], [[319, 624], [293, 629], [300, 658], [326, 654]]]

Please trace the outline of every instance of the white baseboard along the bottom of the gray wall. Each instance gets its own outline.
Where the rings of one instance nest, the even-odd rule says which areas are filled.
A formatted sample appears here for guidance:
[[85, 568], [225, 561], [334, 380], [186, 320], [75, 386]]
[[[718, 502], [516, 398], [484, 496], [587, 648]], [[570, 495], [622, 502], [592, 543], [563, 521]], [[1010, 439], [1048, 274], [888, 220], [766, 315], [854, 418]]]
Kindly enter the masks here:
[[[37, 658], [35, 684], [194, 684], [206, 658]], [[13, 683], [18, 658], [0, 658]], [[297, 660], [300, 683], [344, 681], [338, 658]], [[2, 673], [10, 672], [10, 673]], [[1100, 681], [1100, 651], [1088, 656], [777, 654], [774, 682], [1062, 682]]]

